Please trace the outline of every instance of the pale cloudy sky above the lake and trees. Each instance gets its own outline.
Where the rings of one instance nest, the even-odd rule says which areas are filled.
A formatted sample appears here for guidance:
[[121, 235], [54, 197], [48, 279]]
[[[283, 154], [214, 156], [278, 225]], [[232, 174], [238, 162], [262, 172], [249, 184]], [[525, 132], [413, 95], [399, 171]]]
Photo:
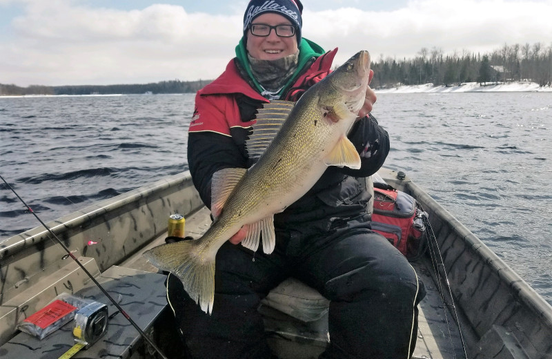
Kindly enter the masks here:
[[[0, 0], [0, 84], [215, 79], [235, 56], [247, 0]], [[303, 0], [302, 35], [334, 64], [552, 46], [552, 0]], [[377, 74], [376, 74], [377, 75]]]

